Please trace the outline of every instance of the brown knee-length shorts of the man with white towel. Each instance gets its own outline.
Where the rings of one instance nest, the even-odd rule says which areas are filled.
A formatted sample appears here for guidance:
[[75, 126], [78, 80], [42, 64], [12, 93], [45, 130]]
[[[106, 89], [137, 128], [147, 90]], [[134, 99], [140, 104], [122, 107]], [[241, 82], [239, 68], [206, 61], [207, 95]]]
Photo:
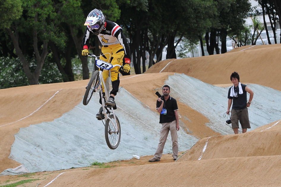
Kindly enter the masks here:
[[[250, 121], [248, 108], [244, 108], [243, 110], [231, 110], [231, 125], [232, 128], [239, 128], [239, 122], [241, 124], [242, 129], [250, 129]], [[238, 122], [239, 121], [239, 122]]]

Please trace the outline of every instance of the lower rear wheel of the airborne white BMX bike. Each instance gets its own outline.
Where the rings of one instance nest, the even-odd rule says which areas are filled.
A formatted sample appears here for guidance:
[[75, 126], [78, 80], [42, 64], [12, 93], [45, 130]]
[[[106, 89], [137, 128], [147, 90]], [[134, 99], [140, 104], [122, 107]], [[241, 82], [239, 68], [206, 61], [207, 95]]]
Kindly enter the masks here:
[[[119, 146], [121, 139], [121, 126], [119, 119], [116, 117], [116, 128], [114, 128], [114, 124], [110, 122], [109, 119], [105, 122], [105, 141], [110, 149], [116, 149]], [[115, 123], [113, 114], [109, 115], [109, 118]]]

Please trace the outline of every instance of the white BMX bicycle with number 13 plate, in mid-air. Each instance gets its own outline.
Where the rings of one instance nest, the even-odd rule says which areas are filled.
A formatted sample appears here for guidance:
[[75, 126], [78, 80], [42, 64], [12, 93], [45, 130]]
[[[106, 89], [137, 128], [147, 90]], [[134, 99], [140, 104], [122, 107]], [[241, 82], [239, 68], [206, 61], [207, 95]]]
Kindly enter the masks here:
[[[121, 65], [112, 65], [111, 63], [105, 62], [100, 60], [94, 54], [89, 54], [89, 57], [95, 58], [95, 65], [99, 68], [99, 70], [93, 71], [91, 79], [87, 85], [86, 92], [83, 98], [83, 105], [87, 105], [93, 95], [94, 92], [100, 90], [100, 97], [102, 101], [102, 107], [100, 108], [100, 117], [101, 121], [105, 126], [105, 141], [110, 149], [116, 149], [119, 146], [120, 139], [121, 139], [121, 127], [118, 117], [115, 115], [112, 106], [106, 106], [105, 100], [108, 100], [109, 94], [109, 83], [105, 84], [103, 80], [102, 71], [108, 70], [109, 71], [109, 81], [111, 81], [111, 73], [110, 69], [116, 66], [121, 67]], [[109, 58], [110, 59], [110, 58]], [[104, 94], [102, 93], [102, 88], [104, 90]], [[116, 105], [115, 105], [116, 106]], [[116, 109], [116, 108], [114, 108]]]

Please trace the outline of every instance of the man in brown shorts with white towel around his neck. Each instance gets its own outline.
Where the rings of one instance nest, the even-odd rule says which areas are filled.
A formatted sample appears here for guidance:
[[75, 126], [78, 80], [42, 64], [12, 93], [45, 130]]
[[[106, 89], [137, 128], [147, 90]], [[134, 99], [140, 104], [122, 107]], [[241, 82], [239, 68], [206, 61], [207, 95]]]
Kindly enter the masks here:
[[[233, 83], [233, 86], [228, 90], [228, 107], [226, 114], [229, 114], [232, 104], [230, 119], [234, 134], [238, 134], [239, 122], [242, 127], [242, 133], [245, 133], [247, 132], [247, 129], [251, 128], [247, 107], [250, 107], [251, 105], [254, 92], [247, 87], [247, 85], [240, 83], [240, 77], [237, 72], [234, 71], [231, 74], [230, 80]], [[247, 101], [247, 92], [250, 94], [249, 101]]]

